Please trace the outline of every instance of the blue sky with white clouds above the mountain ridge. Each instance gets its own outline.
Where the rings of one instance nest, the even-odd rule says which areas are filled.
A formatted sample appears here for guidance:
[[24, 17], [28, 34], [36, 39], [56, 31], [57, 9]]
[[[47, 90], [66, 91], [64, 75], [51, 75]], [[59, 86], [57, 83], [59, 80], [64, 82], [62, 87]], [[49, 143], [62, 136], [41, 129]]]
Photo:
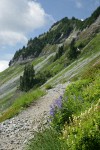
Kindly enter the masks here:
[[85, 19], [98, 6], [100, 0], [0, 0], [0, 72], [30, 38], [64, 17]]

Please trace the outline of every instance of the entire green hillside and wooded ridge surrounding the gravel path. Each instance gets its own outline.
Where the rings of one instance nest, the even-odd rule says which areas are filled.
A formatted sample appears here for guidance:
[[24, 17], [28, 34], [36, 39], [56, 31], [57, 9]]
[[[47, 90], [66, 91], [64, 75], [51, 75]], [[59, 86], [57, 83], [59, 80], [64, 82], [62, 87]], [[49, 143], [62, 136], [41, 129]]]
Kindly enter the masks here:
[[84, 21], [58, 21], [30, 39], [9, 65], [0, 73], [0, 122], [34, 105], [57, 85], [69, 84], [27, 150], [100, 148], [100, 7]]

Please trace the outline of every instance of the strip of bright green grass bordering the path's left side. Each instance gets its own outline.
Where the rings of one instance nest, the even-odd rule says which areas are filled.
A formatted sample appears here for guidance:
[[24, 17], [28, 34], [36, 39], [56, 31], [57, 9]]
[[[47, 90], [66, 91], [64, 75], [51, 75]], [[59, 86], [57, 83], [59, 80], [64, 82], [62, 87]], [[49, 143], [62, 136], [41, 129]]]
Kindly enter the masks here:
[[1, 116], [0, 116], [0, 122], [12, 118], [15, 115], [17, 115], [22, 109], [28, 107], [39, 99], [41, 96], [43, 96], [45, 92], [40, 89], [36, 89], [34, 91], [30, 91], [22, 96], [20, 96], [16, 101], [13, 103], [13, 105], [8, 108], [7, 111], [5, 111]]

